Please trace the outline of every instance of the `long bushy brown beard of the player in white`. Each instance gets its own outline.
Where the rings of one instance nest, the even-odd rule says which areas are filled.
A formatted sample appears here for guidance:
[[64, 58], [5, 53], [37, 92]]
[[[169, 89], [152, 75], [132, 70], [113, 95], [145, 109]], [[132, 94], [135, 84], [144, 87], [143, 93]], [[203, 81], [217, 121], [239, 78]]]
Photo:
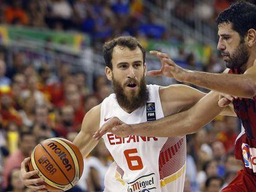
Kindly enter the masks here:
[[[135, 81], [135, 80], [134, 80]], [[137, 81], [135, 81], [137, 82]], [[139, 92], [135, 92], [130, 94], [129, 96], [124, 92], [124, 87], [113, 77], [113, 90], [116, 93], [116, 99], [118, 104], [121, 107], [128, 111], [134, 111], [139, 107], [142, 107], [146, 104], [149, 99], [149, 92], [147, 89], [145, 77], [140, 80], [139, 85]]]

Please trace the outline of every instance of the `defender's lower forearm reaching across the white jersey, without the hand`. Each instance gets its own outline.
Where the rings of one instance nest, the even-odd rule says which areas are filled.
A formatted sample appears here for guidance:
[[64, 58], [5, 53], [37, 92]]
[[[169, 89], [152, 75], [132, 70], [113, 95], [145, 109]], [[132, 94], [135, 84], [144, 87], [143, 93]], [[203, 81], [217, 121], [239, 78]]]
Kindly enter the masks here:
[[211, 92], [187, 111], [170, 115], [154, 122], [130, 125], [133, 135], [177, 136], [197, 132], [210, 122], [223, 108], [218, 106], [218, 93]]

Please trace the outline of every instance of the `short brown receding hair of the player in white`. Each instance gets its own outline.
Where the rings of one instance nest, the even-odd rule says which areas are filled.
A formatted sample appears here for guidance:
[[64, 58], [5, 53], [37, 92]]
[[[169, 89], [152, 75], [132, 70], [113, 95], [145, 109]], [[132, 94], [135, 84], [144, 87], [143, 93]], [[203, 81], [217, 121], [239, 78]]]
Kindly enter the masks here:
[[143, 54], [143, 64], [145, 64], [145, 56], [146, 52], [139, 41], [133, 36], [119, 36], [118, 38], [114, 38], [114, 40], [108, 41], [103, 46], [103, 56], [105, 60], [105, 64], [110, 69], [113, 69], [113, 65], [111, 63], [113, 49], [115, 46], [127, 47], [130, 50], [134, 50], [137, 47], [140, 48]]

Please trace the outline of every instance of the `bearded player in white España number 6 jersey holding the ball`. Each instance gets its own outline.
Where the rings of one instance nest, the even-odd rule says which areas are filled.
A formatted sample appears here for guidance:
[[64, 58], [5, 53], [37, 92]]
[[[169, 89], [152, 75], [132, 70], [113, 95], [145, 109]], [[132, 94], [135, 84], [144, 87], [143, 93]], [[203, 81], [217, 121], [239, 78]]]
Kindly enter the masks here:
[[[205, 94], [185, 85], [160, 87], [145, 83], [145, 50], [132, 37], [116, 38], [103, 47], [106, 76], [113, 82], [114, 94], [90, 110], [84, 117], [82, 130], [74, 140], [83, 156], [95, 148], [98, 140], [93, 138], [96, 130], [111, 117], [119, 117], [126, 123], [149, 122], [186, 111]], [[223, 108], [218, 106], [218, 93], [207, 95], [208, 121]], [[229, 109], [224, 111], [232, 114]], [[150, 136], [127, 136], [121, 138], [108, 133], [103, 136], [106, 147], [115, 163], [106, 173], [105, 191], [183, 191], [186, 170], [186, 137], [156, 138]], [[27, 172], [22, 162], [22, 179], [26, 186], [41, 181], [30, 179], [36, 173]], [[40, 190], [42, 191], [42, 190]]]

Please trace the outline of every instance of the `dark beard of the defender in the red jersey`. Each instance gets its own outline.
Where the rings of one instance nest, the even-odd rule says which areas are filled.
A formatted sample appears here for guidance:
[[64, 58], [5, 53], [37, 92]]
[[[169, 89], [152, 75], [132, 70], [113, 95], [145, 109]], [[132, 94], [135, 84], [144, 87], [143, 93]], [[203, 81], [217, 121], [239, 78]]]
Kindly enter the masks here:
[[234, 50], [234, 53], [229, 56], [226, 62], [226, 67], [229, 69], [240, 68], [249, 59], [249, 50], [244, 42], [241, 42], [239, 46]]

